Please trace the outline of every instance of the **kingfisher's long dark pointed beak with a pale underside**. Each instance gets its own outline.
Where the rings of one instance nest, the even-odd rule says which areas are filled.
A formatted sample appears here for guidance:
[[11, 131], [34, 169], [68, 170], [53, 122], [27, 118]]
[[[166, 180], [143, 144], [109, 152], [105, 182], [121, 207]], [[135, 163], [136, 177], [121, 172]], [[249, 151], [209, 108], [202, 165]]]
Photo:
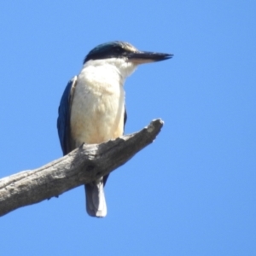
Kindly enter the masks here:
[[127, 57], [134, 64], [150, 63], [155, 61], [166, 61], [173, 55], [149, 51], [136, 51], [130, 53]]

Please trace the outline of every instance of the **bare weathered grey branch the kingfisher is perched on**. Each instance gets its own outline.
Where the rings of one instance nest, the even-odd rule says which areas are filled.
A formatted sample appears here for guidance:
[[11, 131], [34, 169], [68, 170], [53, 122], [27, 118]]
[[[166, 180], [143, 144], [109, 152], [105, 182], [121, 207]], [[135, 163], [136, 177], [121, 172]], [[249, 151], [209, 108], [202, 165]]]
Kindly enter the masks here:
[[0, 216], [113, 172], [153, 143], [162, 126], [163, 121], [155, 119], [137, 133], [107, 143], [84, 144], [46, 166], [3, 177], [0, 179]]

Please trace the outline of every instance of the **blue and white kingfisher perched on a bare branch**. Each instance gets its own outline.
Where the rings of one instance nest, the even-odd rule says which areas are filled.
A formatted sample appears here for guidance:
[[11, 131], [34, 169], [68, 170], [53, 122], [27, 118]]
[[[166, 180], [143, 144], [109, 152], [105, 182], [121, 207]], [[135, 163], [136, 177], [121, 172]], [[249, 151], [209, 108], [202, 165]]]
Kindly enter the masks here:
[[[124, 134], [125, 79], [143, 63], [165, 61], [172, 54], [141, 51], [123, 41], [100, 44], [85, 56], [83, 67], [61, 96], [57, 130], [64, 155], [81, 144], [104, 143]], [[107, 215], [104, 186], [108, 175], [84, 184], [86, 211]]]

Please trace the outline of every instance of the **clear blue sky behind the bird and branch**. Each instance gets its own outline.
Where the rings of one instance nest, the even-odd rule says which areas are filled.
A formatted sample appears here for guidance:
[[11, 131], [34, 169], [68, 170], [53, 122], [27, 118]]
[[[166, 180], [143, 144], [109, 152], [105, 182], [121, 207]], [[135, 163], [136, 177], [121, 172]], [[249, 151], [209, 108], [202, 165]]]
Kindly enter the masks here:
[[0, 177], [61, 157], [57, 108], [97, 44], [174, 54], [125, 84], [125, 133], [153, 144], [108, 179], [108, 216], [84, 188], [0, 218], [3, 255], [255, 255], [256, 3], [2, 1]]

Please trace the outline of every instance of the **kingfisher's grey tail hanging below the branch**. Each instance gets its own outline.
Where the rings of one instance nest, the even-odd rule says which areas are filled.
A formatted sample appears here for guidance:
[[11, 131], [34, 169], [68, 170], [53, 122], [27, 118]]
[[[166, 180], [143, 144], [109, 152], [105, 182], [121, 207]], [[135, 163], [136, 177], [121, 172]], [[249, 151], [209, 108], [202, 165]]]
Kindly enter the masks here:
[[93, 183], [85, 184], [86, 211], [92, 217], [105, 217], [107, 204], [104, 195], [103, 177]]

